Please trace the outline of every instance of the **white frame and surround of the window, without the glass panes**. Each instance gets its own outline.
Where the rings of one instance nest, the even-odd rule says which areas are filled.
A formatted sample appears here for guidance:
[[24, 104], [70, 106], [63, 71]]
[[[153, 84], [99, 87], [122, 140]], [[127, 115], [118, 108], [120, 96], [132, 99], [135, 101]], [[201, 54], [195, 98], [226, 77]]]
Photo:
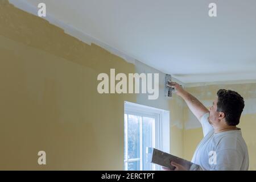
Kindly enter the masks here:
[[[153, 144], [152, 146], [154, 148], [157, 148], [159, 150], [162, 150], [164, 152], [170, 152], [170, 112], [163, 109], [157, 109], [154, 107], [144, 106], [135, 104], [133, 102], [127, 102], [125, 101], [125, 114], [131, 114], [131, 115], [138, 115], [142, 117], [150, 117], [155, 118], [155, 125], [152, 129], [152, 137]], [[141, 120], [141, 119], [140, 119]], [[128, 118], [127, 118], [128, 122]], [[127, 170], [127, 164], [128, 162], [140, 162], [140, 170], [142, 170], [142, 121], [140, 122], [140, 155], [137, 159], [124, 159], [125, 163], [125, 170]], [[126, 123], [127, 125], [127, 123]], [[125, 126], [127, 129], [127, 126]], [[127, 133], [125, 136], [125, 141], [127, 141]], [[126, 150], [128, 150], [127, 142], [125, 143]], [[126, 151], [127, 152], [127, 151]], [[126, 157], [126, 156], [125, 156]], [[152, 170], [159, 170], [159, 166], [156, 166], [153, 164]]]

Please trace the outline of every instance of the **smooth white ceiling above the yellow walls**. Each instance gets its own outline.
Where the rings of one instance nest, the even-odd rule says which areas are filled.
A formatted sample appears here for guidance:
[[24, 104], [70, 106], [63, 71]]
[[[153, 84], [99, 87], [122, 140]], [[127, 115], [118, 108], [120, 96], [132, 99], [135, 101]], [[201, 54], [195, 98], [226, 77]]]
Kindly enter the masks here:
[[256, 79], [255, 0], [24, 1], [182, 82]]

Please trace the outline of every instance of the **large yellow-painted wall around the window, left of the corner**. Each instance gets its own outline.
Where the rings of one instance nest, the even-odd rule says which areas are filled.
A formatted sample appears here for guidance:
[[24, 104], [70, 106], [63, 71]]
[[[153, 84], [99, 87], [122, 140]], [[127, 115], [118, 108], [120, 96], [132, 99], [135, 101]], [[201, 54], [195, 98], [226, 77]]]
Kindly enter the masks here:
[[[123, 102], [137, 96], [98, 94], [97, 75], [133, 73], [134, 64], [5, 0], [0, 57], [0, 169], [123, 169]], [[171, 151], [182, 156], [183, 116], [171, 118]], [[37, 163], [40, 150], [46, 166]]]

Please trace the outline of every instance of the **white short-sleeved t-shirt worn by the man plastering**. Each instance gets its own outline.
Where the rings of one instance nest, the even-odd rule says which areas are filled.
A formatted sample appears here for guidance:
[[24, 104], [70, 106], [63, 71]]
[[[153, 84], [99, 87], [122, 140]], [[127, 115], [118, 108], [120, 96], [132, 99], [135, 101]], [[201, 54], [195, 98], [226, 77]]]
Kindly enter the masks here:
[[192, 163], [198, 164], [201, 170], [248, 170], [249, 156], [241, 130], [214, 134], [208, 119], [209, 113], [201, 118], [204, 138], [196, 148]]

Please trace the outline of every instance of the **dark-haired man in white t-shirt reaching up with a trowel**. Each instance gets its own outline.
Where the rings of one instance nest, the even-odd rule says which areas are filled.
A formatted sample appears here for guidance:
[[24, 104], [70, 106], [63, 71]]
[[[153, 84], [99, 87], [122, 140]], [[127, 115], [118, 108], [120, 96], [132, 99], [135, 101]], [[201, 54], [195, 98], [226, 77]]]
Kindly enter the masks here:
[[[176, 94], [183, 98], [203, 127], [204, 138], [196, 148], [192, 163], [198, 164], [200, 170], [248, 170], [247, 146], [241, 129], [236, 127], [245, 106], [240, 94], [232, 90], [218, 90], [209, 111], [176, 82], [170, 82], [169, 86], [177, 90]], [[171, 162], [171, 165], [177, 171], [185, 170], [180, 164]]]

